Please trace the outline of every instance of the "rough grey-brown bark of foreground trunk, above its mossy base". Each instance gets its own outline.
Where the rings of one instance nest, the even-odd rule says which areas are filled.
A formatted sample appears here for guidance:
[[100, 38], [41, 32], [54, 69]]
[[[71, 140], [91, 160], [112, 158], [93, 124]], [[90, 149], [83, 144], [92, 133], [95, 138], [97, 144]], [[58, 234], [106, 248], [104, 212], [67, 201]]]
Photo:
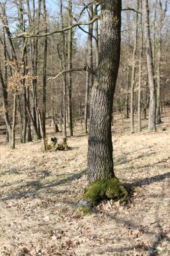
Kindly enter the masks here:
[[120, 63], [121, 1], [98, 1], [102, 7], [99, 65], [91, 95], [88, 180], [114, 177], [112, 103]]

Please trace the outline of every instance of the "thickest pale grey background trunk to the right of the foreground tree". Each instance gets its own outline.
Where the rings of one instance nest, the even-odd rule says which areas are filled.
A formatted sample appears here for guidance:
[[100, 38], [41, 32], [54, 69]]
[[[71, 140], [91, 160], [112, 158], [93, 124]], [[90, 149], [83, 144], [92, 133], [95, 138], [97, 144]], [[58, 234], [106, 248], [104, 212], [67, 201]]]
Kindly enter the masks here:
[[156, 90], [155, 81], [153, 76], [153, 57], [151, 53], [151, 40], [150, 40], [150, 22], [149, 22], [149, 6], [148, 0], [144, 0], [143, 5], [144, 13], [144, 39], [145, 39], [145, 51], [148, 67], [148, 81], [150, 86], [150, 112], [149, 112], [149, 131], [156, 131]]

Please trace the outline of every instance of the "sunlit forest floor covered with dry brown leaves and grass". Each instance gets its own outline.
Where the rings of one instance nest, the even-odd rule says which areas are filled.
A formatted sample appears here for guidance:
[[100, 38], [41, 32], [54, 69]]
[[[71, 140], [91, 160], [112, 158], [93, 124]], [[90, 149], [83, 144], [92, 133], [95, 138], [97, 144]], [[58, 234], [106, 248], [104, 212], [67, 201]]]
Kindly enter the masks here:
[[105, 201], [81, 218], [73, 213], [87, 184], [88, 137], [79, 125], [66, 152], [42, 153], [40, 141], [10, 150], [1, 135], [0, 255], [169, 256], [169, 116], [157, 132], [144, 120], [134, 134], [129, 120], [115, 116], [114, 171], [133, 195], [127, 206]]

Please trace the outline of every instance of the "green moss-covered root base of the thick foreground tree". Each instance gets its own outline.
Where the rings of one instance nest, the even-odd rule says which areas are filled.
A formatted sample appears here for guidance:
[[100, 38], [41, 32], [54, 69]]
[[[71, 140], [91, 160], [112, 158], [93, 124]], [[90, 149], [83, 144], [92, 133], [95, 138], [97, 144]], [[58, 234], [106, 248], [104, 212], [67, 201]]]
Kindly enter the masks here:
[[114, 177], [109, 180], [97, 180], [97, 182], [89, 184], [82, 198], [86, 200], [91, 207], [105, 198], [120, 200], [122, 204], [125, 204], [128, 200], [128, 191], [125, 186], [121, 184], [120, 180]]

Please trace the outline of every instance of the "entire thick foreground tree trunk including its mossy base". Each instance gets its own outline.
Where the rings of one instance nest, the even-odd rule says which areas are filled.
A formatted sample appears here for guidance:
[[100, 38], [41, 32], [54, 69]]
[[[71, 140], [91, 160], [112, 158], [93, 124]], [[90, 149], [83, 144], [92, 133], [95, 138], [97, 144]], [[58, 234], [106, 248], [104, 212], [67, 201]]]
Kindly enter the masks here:
[[88, 139], [89, 186], [77, 205], [87, 214], [103, 198], [125, 202], [128, 192], [115, 177], [112, 159], [112, 104], [120, 63], [121, 1], [98, 1], [102, 8], [99, 63], [91, 95]]

